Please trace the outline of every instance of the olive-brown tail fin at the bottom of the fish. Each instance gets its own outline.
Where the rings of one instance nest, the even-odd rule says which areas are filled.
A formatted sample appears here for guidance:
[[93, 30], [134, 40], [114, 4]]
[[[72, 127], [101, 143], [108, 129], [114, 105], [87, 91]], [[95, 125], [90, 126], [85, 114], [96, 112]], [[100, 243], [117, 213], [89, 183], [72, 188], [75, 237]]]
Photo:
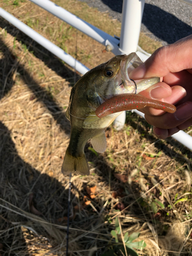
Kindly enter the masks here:
[[61, 172], [63, 174], [70, 174], [70, 173], [78, 173], [81, 175], [89, 175], [89, 165], [86, 159], [86, 155], [82, 155], [80, 157], [74, 157], [69, 154], [67, 149], [65, 158], [62, 163]]

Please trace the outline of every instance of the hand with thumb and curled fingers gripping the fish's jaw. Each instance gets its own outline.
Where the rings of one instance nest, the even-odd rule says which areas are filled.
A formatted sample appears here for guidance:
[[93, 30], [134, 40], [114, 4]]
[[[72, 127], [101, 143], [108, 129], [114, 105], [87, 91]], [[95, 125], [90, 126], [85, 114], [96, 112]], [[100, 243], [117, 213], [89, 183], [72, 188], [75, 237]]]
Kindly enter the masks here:
[[159, 48], [141, 66], [131, 72], [132, 79], [161, 77], [161, 81], [143, 91], [147, 98], [177, 106], [174, 114], [143, 108], [145, 119], [154, 125], [154, 134], [165, 139], [192, 125], [192, 35]]

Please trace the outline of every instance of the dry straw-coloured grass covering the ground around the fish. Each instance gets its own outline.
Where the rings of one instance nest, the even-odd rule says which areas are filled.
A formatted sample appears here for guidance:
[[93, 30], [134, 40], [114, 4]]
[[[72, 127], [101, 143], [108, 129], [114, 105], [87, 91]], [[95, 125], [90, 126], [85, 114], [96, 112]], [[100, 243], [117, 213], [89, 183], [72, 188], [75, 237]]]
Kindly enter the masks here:
[[[120, 32], [117, 21], [106, 14], [96, 19], [98, 11], [86, 4], [62, 4], [86, 12], [81, 17], [101, 29], [107, 22], [108, 33]], [[76, 30], [30, 2], [2, 6], [75, 56]], [[60, 169], [74, 71], [3, 19], [0, 33], [0, 254], [65, 255], [69, 177]], [[159, 47], [143, 38], [148, 51]], [[77, 58], [89, 68], [113, 56], [80, 32], [77, 46]], [[174, 139], [157, 140], [131, 113], [123, 131], [111, 126], [106, 137], [103, 154], [86, 146], [91, 175], [72, 177], [70, 255], [99, 256], [108, 248], [123, 255], [110, 233], [117, 216], [123, 234], [140, 232], [146, 247], [139, 255], [192, 255], [192, 153]]]

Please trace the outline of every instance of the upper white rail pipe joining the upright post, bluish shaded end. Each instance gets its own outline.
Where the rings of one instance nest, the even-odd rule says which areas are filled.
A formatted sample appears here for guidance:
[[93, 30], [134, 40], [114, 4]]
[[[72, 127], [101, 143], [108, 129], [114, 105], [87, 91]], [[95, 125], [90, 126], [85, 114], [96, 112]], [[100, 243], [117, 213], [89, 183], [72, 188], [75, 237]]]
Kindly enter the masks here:
[[73, 15], [72, 13], [66, 11], [65, 9], [61, 8], [60, 6], [56, 5], [55, 3], [49, 0], [30, 0], [30, 1], [38, 5], [39, 7], [47, 10], [48, 12], [52, 13], [56, 17], [70, 24], [74, 28], [83, 32], [84, 34], [92, 37], [94, 40], [100, 42], [100, 44], [104, 46], [109, 46], [110, 50], [115, 55], [119, 54], [119, 47], [118, 47], [119, 40], [117, 38], [103, 32], [102, 30], [94, 27], [88, 22], [85, 22], [83, 19]]

